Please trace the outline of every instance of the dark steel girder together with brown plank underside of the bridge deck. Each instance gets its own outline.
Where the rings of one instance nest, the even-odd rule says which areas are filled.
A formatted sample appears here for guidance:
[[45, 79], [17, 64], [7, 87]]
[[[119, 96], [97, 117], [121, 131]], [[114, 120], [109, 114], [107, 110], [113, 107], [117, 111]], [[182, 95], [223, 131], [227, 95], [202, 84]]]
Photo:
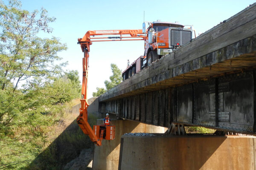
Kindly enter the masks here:
[[[250, 42], [253, 45], [250, 49], [256, 51], [252, 49], [256, 48], [255, 37], [233, 45], [240, 44], [241, 52], [244, 48], [248, 48], [248, 46], [241, 45], [244, 41], [253, 41]], [[233, 53], [240, 53], [234, 50], [235, 48], [230, 47], [230, 49]], [[220, 49], [208, 54], [208, 59], [205, 61], [214, 61], [218, 57], [222, 58], [222, 55], [227, 57], [227, 54], [234, 56], [233, 53], [231, 54], [228, 49]], [[200, 59], [198, 62], [201, 65], [207, 64]], [[124, 119], [164, 127], [177, 122], [242, 133], [255, 133], [255, 66], [256, 52], [242, 54], [239, 57], [100, 102], [99, 111], [115, 113]]]

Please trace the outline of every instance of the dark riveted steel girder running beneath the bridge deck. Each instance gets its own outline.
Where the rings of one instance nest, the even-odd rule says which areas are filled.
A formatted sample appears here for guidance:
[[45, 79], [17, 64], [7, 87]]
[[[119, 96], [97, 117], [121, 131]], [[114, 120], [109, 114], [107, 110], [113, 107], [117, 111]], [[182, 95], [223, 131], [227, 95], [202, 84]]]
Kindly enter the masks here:
[[164, 127], [176, 122], [254, 133], [255, 80], [256, 69], [253, 69], [100, 102], [99, 108], [102, 113]]

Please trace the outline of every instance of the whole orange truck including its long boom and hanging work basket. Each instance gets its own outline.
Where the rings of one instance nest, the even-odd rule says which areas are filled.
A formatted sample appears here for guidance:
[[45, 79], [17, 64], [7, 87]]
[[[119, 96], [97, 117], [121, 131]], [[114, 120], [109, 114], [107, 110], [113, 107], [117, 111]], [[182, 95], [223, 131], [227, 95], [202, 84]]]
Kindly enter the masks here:
[[[148, 23], [148, 28], [146, 24]], [[152, 62], [160, 59], [165, 54], [172, 52], [181, 45], [192, 40], [195, 32], [192, 26], [184, 28], [185, 26], [178, 23], [169, 22], [144, 22], [143, 29], [134, 30], [98, 30], [87, 31], [83, 38], [78, 39], [78, 44], [84, 52], [83, 58], [83, 80], [82, 80], [82, 99], [80, 114], [77, 118], [77, 123], [86, 135], [97, 144], [101, 145], [102, 139], [115, 139], [115, 126], [94, 125], [93, 130], [87, 122], [87, 78], [88, 78], [88, 58], [90, 52], [90, 45], [93, 42], [99, 41], [134, 41], [144, 40], [144, 55], [140, 56], [125, 71], [122, 72], [123, 80], [128, 79], [143, 68], [151, 65]], [[102, 35], [119, 35], [118, 37], [95, 37]]]

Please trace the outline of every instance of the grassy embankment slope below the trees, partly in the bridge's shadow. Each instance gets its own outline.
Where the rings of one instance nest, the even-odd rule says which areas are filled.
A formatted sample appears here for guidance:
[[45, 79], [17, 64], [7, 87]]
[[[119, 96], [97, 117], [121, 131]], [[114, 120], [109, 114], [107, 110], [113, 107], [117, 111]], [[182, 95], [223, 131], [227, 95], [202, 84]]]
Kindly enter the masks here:
[[[60, 170], [78, 157], [81, 150], [94, 147], [89, 136], [84, 135], [76, 123], [78, 113], [71, 113], [72, 106], [79, 102], [79, 99], [74, 99], [64, 105], [56, 105], [51, 111], [54, 113], [50, 118], [53, 123], [49, 125], [37, 126], [35, 129], [24, 126], [15, 129], [13, 133], [14, 137], [19, 137], [20, 133], [35, 130], [43, 137], [28, 135], [20, 137], [17, 142], [7, 137], [0, 140], [0, 169]], [[97, 116], [88, 115], [91, 126], [96, 124], [96, 119]], [[8, 155], [9, 153], [16, 155]], [[12, 162], [12, 165], [5, 162]]]

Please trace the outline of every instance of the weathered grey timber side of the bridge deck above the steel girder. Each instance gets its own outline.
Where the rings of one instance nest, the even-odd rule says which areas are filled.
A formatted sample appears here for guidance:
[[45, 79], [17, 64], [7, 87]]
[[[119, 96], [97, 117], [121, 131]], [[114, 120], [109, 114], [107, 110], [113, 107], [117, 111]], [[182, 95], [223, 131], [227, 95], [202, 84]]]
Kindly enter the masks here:
[[[117, 85], [115, 88], [111, 89], [110, 91], [100, 96], [99, 101], [104, 101], [106, 99], [111, 99], [115, 96], [127, 94], [131, 91], [135, 91], [136, 89], [140, 89], [148, 85], [156, 84], [158, 82], [164, 81], [166, 79], [170, 79], [172, 77], [177, 77], [179, 75], [185, 76], [186, 73], [189, 73], [191, 71], [198, 70], [204, 67], [209, 67], [210, 65], [216, 64], [218, 62], [223, 62], [227, 59], [233, 58], [235, 60], [234, 57], [239, 57], [244, 54], [255, 57], [255, 54], [252, 54], [253, 52], [252, 50], [255, 49], [255, 45], [253, 45], [256, 41], [255, 36], [241, 40], [244, 37], [250, 36], [251, 34], [254, 34], [254, 35], [256, 34], [256, 19], [255, 19], [256, 14], [254, 13], [252, 14], [252, 10], [255, 11], [255, 9], [256, 9], [256, 6], [254, 5], [253, 7], [250, 7], [248, 10], [245, 10], [244, 12], [242, 12], [241, 15], [237, 15], [236, 16], [237, 18], [234, 17], [233, 19], [230, 19], [229, 22], [226, 22], [224, 24], [221, 24], [221, 26], [216, 27], [216, 29], [218, 28], [217, 31], [215, 30], [215, 27], [214, 27], [212, 31], [207, 32], [207, 35], [198, 37], [198, 39], [189, 43], [190, 45], [185, 45], [177, 49], [174, 52], [174, 54], [171, 54], [172, 56], [170, 55], [169, 58], [164, 57], [163, 59], [160, 59], [159, 61], [154, 62], [150, 67], [145, 68], [143, 71], [139, 72], [138, 74], [135, 74], [134, 77], [131, 77], [130, 79], [122, 82], [121, 84]], [[242, 23], [245, 22], [243, 25], [241, 23], [237, 24], [235, 22], [239, 19], [241, 20], [241, 18], [244, 19]], [[236, 23], [236, 26], [231, 28], [230, 26], [233, 26], [232, 24], [234, 23]], [[221, 34], [216, 34], [217, 32], [218, 33], [221, 32]], [[208, 39], [208, 42], [202, 43], [201, 39], [203, 40], [203, 37], [205, 40]], [[209, 38], [209, 37], [212, 37], [212, 38]], [[234, 41], [239, 41], [239, 42], [229, 45]], [[228, 46], [224, 46], [224, 45], [228, 45]], [[223, 46], [224, 48], [221, 48]], [[196, 47], [200, 47], [200, 48], [196, 48]], [[214, 51], [216, 49], [218, 50]], [[207, 50], [213, 51], [213, 52], [206, 54], [209, 52]], [[206, 54], [206, 55], [202, 56], [203, 54]], [[173, 55], [174, 55], [174, 59], [173, 59]], [[247, 56], [244, 56], [244, 58], [246, 57]], [[253, 59], [253, 57], [251, 57], [251, 59], [247, 59], [249, 58], [247, 57], [245, 60], [249, 60], [253, 62], [250, 62], [250, 63], [248, 62], [248, 64], [245, 64], [245, 62], [243, 61], [244, 66], [255, 65], [256, 61], [255, 59]], [[207, 77], [212, 74], [218, 74], [224, 71], [229, 71], [229, 70], [239, 68], [238, 62], [234, 62], [233, 64], [234, 64], [233, 67], [230, 66], [230, 67], [227, 67], [227, 69], [219, 69], [220, 72], [212, 69], [212, 71], [208, 70], [207, 72], [202, 72], [200, 74], [198, 73], [199, 75], [196, 75], [194, 78], [197, 79], [197, 77], [200, 78], [203, 76]], [[223, 66], [225, 67], [225, 63], [223, 64]], [[192, 74], [189, 73], [189, 75], [192, 75]], [[189, 81], [189, 80], [186, 79], [185, 81]], [[161, 84], [156, 84], [156, 85], [157, 86], [155, 87], [155, 89], [161, 88], [159, 87]], [[154, 89], [154, 87], [151, 86], [150, 88], [144, 88], [144, 90], [150, 90], [150, 89]], [[132, 95], [132, 94], [128, 94], [128, 95]]]

